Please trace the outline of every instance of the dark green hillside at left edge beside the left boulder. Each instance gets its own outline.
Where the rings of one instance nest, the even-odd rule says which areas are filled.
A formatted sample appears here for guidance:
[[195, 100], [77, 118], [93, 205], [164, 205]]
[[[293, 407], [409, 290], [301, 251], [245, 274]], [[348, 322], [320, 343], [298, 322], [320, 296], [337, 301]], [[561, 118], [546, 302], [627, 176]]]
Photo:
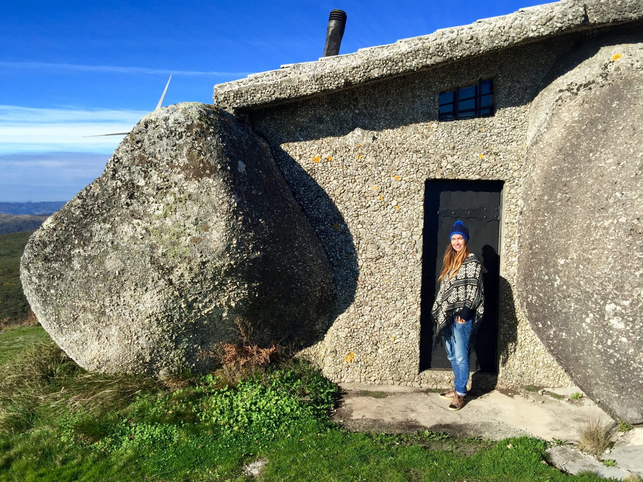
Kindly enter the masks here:
[[23, 321], [30, 314], [20, 281], [20, 257], [32, 233], [0, 235], [0, 326]]

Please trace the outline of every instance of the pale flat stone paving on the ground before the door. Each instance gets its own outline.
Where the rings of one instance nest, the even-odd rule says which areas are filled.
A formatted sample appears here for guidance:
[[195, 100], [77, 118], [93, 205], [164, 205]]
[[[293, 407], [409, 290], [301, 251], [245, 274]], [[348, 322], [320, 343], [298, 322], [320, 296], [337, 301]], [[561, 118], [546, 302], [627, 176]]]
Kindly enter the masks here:
[[[544, 389], [543, 395], [524, 389], [497, 389], [481, 395], [473, 393], [460, 411], [447, 409], [448, 402], [438, 393], [422, 388], [397, 385], [342, 383], [343, 400], [334, 419], [352, 431], [410, 433], [421, 429], [451, 436], [481, 436], [501, 440], [531, 435], [545, 440], [557, 438], [574, 442], [579, 427], [590, 416], [611, 421], [590, 398], [569, 402], [550, 395], [569, 397], [577, 387]], [[619, 434], [610, 454], [616, 467], [567, 445], [548, 449], [552, 463], [575, 474], [592, 470], [602, 477], [625, 478], [629, 472], [643, 476], [643, 426]]]

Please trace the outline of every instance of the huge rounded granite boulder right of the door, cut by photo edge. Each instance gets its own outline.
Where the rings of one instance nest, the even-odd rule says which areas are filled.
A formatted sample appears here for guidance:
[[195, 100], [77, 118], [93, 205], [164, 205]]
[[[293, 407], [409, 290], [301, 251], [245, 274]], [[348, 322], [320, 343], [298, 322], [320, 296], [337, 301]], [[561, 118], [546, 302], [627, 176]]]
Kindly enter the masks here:
[[518, 298], [563, 369], [643, 422], [643, 42], [587, 40], [530, 112]]

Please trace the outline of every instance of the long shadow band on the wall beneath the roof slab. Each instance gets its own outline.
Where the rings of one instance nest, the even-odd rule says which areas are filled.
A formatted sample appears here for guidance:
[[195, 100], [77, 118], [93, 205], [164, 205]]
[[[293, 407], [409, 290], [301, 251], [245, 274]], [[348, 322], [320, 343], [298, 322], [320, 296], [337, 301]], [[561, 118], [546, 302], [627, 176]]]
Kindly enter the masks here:
[[[496, 111], [527, 105], [538, 94], [542, 78], [525, 76], [523, 69], [541, 69], [543, 62], [553, 65], [552, 52], [562, 55], [574, 44], [575, 38], [577, 34], [563, 35], [548, 42], [508, 48], [502, 53], [455, 60], [444, 66], [275, 105], [265, 111], [249, 111], [248, 114], [252, 125], [259, 126], [257, 132], [260, 133], [262, 124], [266, 124], [266, 131], [269, 131], [273, 129], [270, 120], [280, 119], [288, 130], [277, 133], [277, 142], [288, 143], [345, 136], [356, 127], [380, 132], [437, 121], [439, 92], [475, 84], [480, 78], [493, 78], [497, 82], [494, 84]], [[528, 59], [525, 62], [530, 65], [516, 72], [516, 62], [524, 59]], [[458, 130], [463, 122], [467, 120], [444, 121], [441, 128]], [[455, 135], [461, 134], [455, 132]], [[270, 135], [266, 137], [271, 138]], [[271, 142], [275, 140], [271, 138]]]

